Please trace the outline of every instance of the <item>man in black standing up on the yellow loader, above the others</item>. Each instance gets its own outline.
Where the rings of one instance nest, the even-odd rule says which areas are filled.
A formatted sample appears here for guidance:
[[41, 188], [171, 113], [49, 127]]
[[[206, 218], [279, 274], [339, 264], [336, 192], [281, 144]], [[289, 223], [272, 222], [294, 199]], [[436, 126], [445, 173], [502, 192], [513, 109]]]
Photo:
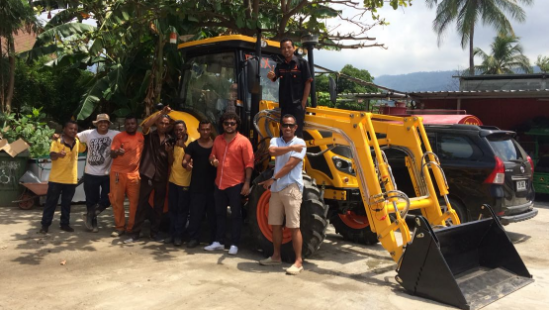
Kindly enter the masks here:
[[[284, 56], [284, 62], [277, 64], [274, 71], [269, 71], [267, 78], [273, 82], [280, 80], [278, 89], [280, 115], [294, 115], [297, 121], [297, 136], [303, 138], [303, 119], [313, 81], [311, 70], [305, 59], [294, 55], [295, 46], [291, 39], [282, 39], [280, 50]], [[282, 122], [282, 119], [280, 121]]]

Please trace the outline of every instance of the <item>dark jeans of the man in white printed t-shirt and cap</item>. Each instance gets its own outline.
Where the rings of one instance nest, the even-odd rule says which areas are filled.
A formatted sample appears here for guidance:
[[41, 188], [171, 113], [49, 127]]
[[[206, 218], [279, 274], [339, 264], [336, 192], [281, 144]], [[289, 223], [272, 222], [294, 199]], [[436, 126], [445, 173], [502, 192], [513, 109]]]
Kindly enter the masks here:
[[96, 205], [99, 205], [99, 211], [103, 211], [111, 205], [109, 201], [110, 184], [109, 175], [84, 174], [84, 192], [86, 193], [88, 212], [95, 211]]

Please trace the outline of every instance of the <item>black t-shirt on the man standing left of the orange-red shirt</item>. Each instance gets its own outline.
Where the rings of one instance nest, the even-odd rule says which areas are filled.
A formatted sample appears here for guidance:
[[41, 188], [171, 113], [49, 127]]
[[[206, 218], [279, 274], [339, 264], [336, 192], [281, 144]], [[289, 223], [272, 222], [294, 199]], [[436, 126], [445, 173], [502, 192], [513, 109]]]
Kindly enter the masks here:
[[[217, 169], [210, 165], [210, 154], [212, 147], [203, 148], [195, 140], [187, 146], [186, 154], [193, 159], [193, 170], [191, 175], [191, 191], [194, 192], [212, 192], [215, 189], [215, 176]], [[212, 194], [213, 195], [213, 194]]]

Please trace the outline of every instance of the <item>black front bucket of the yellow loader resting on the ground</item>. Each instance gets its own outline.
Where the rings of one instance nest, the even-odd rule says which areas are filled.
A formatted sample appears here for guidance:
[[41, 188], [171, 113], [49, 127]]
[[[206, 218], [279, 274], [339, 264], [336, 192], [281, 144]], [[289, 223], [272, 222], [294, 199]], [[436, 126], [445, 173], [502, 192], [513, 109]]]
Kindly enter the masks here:
[[461, 309], [482, 308], [534, 282], [503, 226], [487, 208], [491, 218], [436, 231], [417, 216], [397, 281], [414, 295]]

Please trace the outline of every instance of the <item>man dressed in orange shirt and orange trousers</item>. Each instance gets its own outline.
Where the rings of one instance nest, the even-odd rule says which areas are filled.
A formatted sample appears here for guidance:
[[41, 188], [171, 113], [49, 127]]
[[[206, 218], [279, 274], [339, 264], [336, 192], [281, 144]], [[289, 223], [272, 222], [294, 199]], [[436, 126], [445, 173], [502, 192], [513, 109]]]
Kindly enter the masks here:
[[[141, 161], [141, 152], [145, 141], [143, 134], [137, 131], [137, 117], [135, 115], [126, 116], [124, 128], [126, 131], [117, 134], [111, 144], [111, 158], [113, 158], [113, 161], [109, 199], [114, 213], [115, 230], [111, 234], [113, 237], [119, 237], [125, 231], [132, 231], [139, 200], [139, 162]], [[130, 216], [127, 224], [124, 212], [124, 199], [126, 196], [128, 196], [130, 202]]]

